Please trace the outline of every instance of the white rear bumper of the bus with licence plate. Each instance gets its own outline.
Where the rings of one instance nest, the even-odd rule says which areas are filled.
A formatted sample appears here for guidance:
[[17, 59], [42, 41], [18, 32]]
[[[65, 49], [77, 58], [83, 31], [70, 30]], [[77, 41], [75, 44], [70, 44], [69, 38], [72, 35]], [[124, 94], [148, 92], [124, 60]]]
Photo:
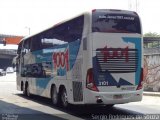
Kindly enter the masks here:
[[85, 104], [123, 104], [142, 100], [143, 90], [129, 92], [94, 92], [88, 91], [85, 97]]

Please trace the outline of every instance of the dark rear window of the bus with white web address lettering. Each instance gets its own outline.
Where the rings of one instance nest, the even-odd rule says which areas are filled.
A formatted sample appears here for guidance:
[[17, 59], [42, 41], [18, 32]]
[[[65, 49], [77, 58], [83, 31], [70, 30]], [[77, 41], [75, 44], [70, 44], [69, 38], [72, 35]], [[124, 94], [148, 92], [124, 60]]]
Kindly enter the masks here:
[[92, 32], [141, 34], [141, 26], [136, 14], [93, 12]]

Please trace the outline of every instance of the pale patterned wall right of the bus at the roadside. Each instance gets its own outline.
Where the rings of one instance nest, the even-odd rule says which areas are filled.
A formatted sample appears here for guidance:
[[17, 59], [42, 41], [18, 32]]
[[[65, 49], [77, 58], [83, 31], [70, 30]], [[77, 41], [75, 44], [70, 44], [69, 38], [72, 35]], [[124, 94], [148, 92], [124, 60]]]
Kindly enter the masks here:
[[144, 90], [160, 92], [160, 54], [144, 55]]

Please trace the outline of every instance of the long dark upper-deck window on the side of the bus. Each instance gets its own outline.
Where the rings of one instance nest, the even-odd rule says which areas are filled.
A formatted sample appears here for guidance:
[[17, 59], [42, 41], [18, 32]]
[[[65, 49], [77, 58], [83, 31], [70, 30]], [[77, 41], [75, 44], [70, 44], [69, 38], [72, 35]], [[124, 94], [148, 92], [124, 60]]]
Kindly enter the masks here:
[[31, 51], [81, 40], [83, 24], [84, 16], [82, 15], [33, 36], [30, 38]]

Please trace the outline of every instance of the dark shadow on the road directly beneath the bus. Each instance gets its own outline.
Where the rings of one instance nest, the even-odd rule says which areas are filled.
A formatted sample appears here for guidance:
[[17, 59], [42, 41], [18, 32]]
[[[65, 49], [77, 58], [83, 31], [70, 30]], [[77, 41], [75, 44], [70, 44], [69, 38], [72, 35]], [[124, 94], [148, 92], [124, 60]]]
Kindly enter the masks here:
[[24, 96], [23, 94], [17, 94], [17, 95], [20, 97], [26, 98], [26, 99], [30, 99], [39, 104], [51, 107], [53, 109], [60, 110], [67, 114], [76, 116], [78, 118], [82, 118], [82, 119], [92, 119], [92, 120], [94, 119], [95, 120], [95, 119], [100, 119], [101, 116], [104, 116], [105, 118], [110, 118], [116, 115], [119, 115], [119, 116], [130, 115], [133, 117], [135, 117], [136, 115], [142, 115], [141, 113], [138, 113], [135, 111], [116, 107], [116, 105], [112, 108], [108, 108], [106, 106], [93, 106], [93, 105], [84, 105], [84, 106], [75, 106], [75, 105], [73, 106], [72, 105], [68, 109], [63, 109], [62, 107], [53, 106], [51, 103], [51, 100], [44, 98], [44, 97], [33, 95], [31, 98], [28, 98]]

